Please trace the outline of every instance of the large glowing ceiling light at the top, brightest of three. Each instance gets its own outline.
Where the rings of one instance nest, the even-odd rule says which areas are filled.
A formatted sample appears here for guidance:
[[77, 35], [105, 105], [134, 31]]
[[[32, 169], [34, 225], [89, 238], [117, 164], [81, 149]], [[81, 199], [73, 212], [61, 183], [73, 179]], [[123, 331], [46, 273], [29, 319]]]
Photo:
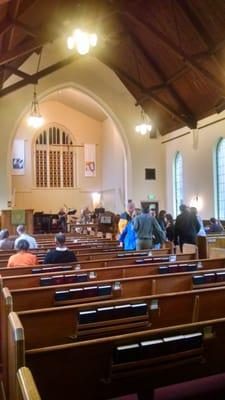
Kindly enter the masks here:
[[67, 47], [72, 50], [76, 47], [77, 52], [81, 55], [88, 54], [91, 47], [97, 45], [98, 37], [96, 33], [83, 32], [80, 29], [75, 29], [72, 36], [67, 38]]

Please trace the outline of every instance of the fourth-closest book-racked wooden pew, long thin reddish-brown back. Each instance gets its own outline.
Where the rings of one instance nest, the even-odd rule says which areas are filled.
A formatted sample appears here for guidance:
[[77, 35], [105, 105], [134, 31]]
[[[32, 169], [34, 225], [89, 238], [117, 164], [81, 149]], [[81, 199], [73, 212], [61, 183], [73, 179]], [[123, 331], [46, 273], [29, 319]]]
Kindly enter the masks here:
[[[6, 286], [10, 290], [13, 289], [22, 289], [22, 288], [28, 288], [28, 287], [39, 287], [41, 285], [53, 285], [53, 284], [63, 284], [66, 283], [66, 280], [70, 279], [70, 283], [73, 280], [74, 283], [76, 282], [76, 278], [84, 277], [87, 282], [93, 282], [93, 284], [96, 283], [96, 281], [101, 281], [101, 280], [107, 280], [107, 279], [116, 279], [120, 280], [122, 278], [130, 278], [130, 277], [137, 277], [137, 276], [152, 276], [152, 279], [155, 280], [155, 289], [154, 291], [160, 292], [161, 289], [163, 289], [163, 282], [168, 276], [176, 276], [176, 274], [182, 274], [182, 278], [184, 280], [184, 273], [185, 272], [191, 272], [191, 275], [200, 275], [202, 276], [203, 274], [206, 273], [217, 273], [217, 272], [223, 272], [225, 268], [225, 260], [220, 259], [220, 260], [202, 260], [202, 261], [192, 261], [190, 263], [165, 263], [163, 265], [159, 264], [150, 264], [150, 265], [144, 265], [144, 266], [132, 266], [132, 265], [127, 265], [127, 266], [119, 266], [119, 267], [107, 267], [107, 268], [98, 268], [96, 270], [91, 270], [91, 269], [85, 269], [81, 271], [75, 271], [75, 270], [69, 270], [69, 271], [53, 271], [53, 272], [47, 272], [47, 273], [38, 273], [38, 274], [24, 274], [24, 275], [15, 275], [15, 276], [3, 276], [1, 277], [2, 279], [2, 287]], [[164, 270], [168, 270], [165, 272]], [[162, 274], [163, 271], [163, 274]], [[17, 269], [16, 269], [17, 272]], [[26, 272], [26, 270], [25, 270]], [[159, 275], [158, 277], [154, 277], [154, 275]], [[185, 282], [185, 287], [187, 289], [192, 288], [192, 277], [189, 275], [190, 279], [188, 282], [188, 278]], [[219, 285], [224, 285], [225, 284], [225, 275], [224, 279], [222, 280], [223, 274], [218, 277], [220, 278], [220, 281], [218, 280]], [[208, 276], [208, 280], [209, 280]], [[83, 278], [82, 278], [83, 279]], [[77, 279], [78, 280], [78, 279]], [[206, 279], [207, 280], [207, 279]], [[60, 282], [61, 281], [61, 282]], [[159, 285], [157, 284], [157, 281], [159, 282]], [[162, 282], [162, 284], [160, 283]], [[211, 279], [212, 281], [212, 279]], [[210, 286], [209, 283], [205, 282], [206, 286]], [[197, 285], [198, 286], [198, 285]], [[204, 287], [201, 285], [201, 287]], [[182, 286], [181, 286], [182, 289]], [[165, 290], [166, 286], [165, 286]]]

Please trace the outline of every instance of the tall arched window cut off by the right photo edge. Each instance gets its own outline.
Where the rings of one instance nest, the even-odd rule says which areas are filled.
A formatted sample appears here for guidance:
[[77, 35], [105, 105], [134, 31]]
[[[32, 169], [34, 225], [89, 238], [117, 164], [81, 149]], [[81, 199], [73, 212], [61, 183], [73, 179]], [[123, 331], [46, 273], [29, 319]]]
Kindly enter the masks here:
[[225, 219], [225, 139], [216, 148], [217, 216]]

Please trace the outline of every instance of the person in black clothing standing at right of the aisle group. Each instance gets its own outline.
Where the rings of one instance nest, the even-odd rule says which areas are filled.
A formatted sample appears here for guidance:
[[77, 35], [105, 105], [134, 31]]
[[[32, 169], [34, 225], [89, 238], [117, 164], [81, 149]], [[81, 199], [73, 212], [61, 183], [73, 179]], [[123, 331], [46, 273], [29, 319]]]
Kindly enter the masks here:
[[183, 244], [196, 244], [197, 233], [200, 229], [200, 223], [196, 215], [190, 213], [187, 206], [180, 206], [181, 213], [177, 216], [175, 222], [174, 243], [179, 243], [180, 250], [183, 250]]

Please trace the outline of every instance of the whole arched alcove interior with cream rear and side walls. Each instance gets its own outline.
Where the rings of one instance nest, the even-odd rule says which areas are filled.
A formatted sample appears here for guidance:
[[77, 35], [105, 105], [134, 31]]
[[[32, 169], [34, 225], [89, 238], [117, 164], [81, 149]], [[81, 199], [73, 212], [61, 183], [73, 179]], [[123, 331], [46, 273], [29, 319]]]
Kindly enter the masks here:
[[[81, 209], [92, 207], [92, 193], [101, 193], [106, 209], [121, 211], [127, 201], [127, 171], [130, 170], [129, 146], [113, 112], [101, 99], [74, 83], [48, 89], [40, 97], [44, 127], [33, 130], [27, 126], [27, 107], [14, 131], [15, 139], [24, 141], [24, 175], [12, 175], [12, 206], [33, 208], [35, 211], [55, 212], [66, 205]], [[35, 138], [50, 125], [65, 127], [76, 144], [75, 185], [71, 187], [37, 187], [35, 179]], [[96, 176], [84, 172], [84, 145], [96, 148]], [[10, 161], [11, 161], [10, 157]], [[48, 161], [49, 162], [49, 161]]]

